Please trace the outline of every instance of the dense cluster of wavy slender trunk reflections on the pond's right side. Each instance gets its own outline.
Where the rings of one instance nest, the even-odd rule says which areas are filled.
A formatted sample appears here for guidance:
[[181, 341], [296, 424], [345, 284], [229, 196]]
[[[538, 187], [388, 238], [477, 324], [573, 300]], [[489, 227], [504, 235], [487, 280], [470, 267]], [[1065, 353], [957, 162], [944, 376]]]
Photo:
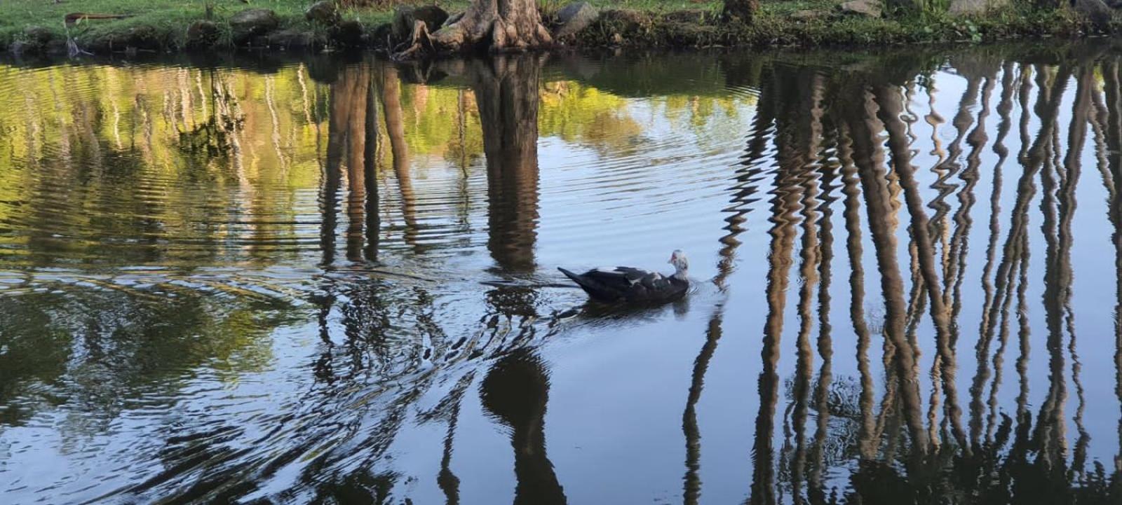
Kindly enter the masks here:
[[[1058, 66], [1047, 63], [1012, 64], [995, 57], [982, 57], [974, 62], [956, 62], [956, 68], [966, 77], [967, 86], [959, 104], [954, 124], [958, 131], [950, 143], [949, 152], [935, 167], [938, 180], [934, 188], [940, 190], [937, 200], [926, 204], [920, 195], [914, 163], [916, 137], [907, 124], [914, 114], [907, 110], [907, 93], [912, 76], [920, 73], [916, 67], [895, 67], [879, 74], [873, 69], [837, 72], [829, 78], [817, 80], [803, 69], [774, 64], [771, 82], [760, 83], [761, 111], [783, 111], [774, 118], [774, 138], [780, 153], [772, 199], [772, 251], [770, 254], [769, 322], [764, 330], [764, 372], [760, 382], [761, 410], [756, 421], [756, 446], [754, 451], [752, 503], [778, 503], [792, 499], [794, 503], [945, 503], [967, 501], [977, 503], [1111, 503], [1122, 498], [1122, 474], [1118, 462], [1113, 469], [1100, 464], [1088, 468], [1087, 445], [1089, 434], [1084, 425], [1083, 411], [1086, 399], [1080, 377], [1080, 362], [1075, 345], [1075, 319], [1072, 307], [1072, 223], [1076, 209], [1075, 188], [1079, 180], [1080, 156], [1086, 140], [1087, 127], [1096, 132], [1100, 144], [1110, 140], [1100, 134], [1095, 120], [1095, 103], [1105, 103], [1106, 95], [1115, 94], [1110, 84], [1096, 85], [1095, 72], [1110, 74], [1116, 57], [1101, 52], [1072, 50], [1060, 58]], [[885, 71], [886, 68], [875, 68]], [[999, 80], [999, 73], [1000, 80]], [[766, 72], [765, 72], [766, 74]], [[1034, 76], [1034, 83], [1030, 80]], [[1068, 92], [1068, 82], [1074, 77], [1076, 90]], [[986, 148], [988, 137], [985, 120], [992, 99], [1000, 82], [997, 135], [992, 149], [999, 155], [994, 170], [991, 197], [990, 244], [986, 263], [981, 279], [985, 292], [981, 338], [975, 347], [977, 371], [969, 389], [971, 409], [968, 431], [963, 423], [964, 412], [959, 408], [957, 381], [958, 359], [956, 343], [964, 328], [956, 322], [962, 312], [962, 289], [968, 250], [967, 239], [972, 224], [971, 208], [975, 200], [973, 191], [977, 187], [980, 151]], [[820, 86], [810, 92], [789, 93], [801, 85]], [[1020, 86], [1020, 93], [1017, 87]], [[1034, 92], [1034, 93], [1033, 93]], [[978, 93], [981, 97], [978, 99]], [[790, 97], [793, 95], [793, 97]], [[819, 102], [812, 96], [824, 96]], [[1033, 100], [1030, 104], [1029, 100]], [[1004, 142], [1013, 123], [1011, 112], [1015, 99], [1022, 105], [1022, 153], [1024, 171], [1020, 176], [1014, 195], [1011, 228], [1005, 232], [1005, 245], [997, 247], [1002, 235], [1003, 202], [1001, 174], [1008, 149]], [[800, 99], [802, 100], [800, 102]], [[932, 99], [934, 100], [934, 99]], [[974, 107], [980, 100], [981, 111]], [[1070, 124], [1066, 130], [1059, 125], [1061, 104], [1070, 101]], [[767, 102], [774, 102], [769, 105]], [[1031, 113], [1030, 107], [1031, 106]], [[825, 109], [826, 113], [818, 111]], [[1097, 116], [1110, 115], [1098, 112]], [[1029, 124], [1034, 114], [1040, 129], [1030, 133]], [[809, 125], [798, 125], [785, 130], [788, 124], [809, 121]], [[971, 122], [976, 120], [972, 129]], [[762, 130], [762, 129], [761, 129]], [[794, 134], [784, 133], [793, 131]], [[826, 139], [837, 139], [836, 156], [819, 152], [818, 149], [799, 150], [798, 132], [822, 131]], [[1060, 132], [1066, 132], [1066, 143], [1060, 143]], [[966, 167], [960, 169], [960, 140], [969, 147]], [[756, 143], [749, 140], [749, 146]], [[793, 149], [794, 155], [784, 158], [784, 149]], [[819, 148], [820, 149], [820, 148]], [[829, 148], [822, 149], [830, 151]], [[749, 149], [749, 152], [752, 150]], [[1101, 151], [1102, 152], [1102, 151]], [[803, 161], [799, 156], [811, 161]], [[792, 160], [784, 163], [784, 159]], [[885, 167], [888, 161], [888, 167]], [[751, 162], [751, 160], [749, 160]], [[835, 165], [837, 163], [837, 165]], [[1098, 163], [1112, 193], [1112, 179], [1120, 167], [1103, 156]], [[816, 273], [818, 254], [827, 249], [819, 246], [813, 235], [825, 243], [830, 240], [825, 227], [828, 221], [816, 218], [813, 209], [829, 209], [830, 202], [816, 198], [817, 183], [836, 177], [842, 171], [844, 181], [847, 252], [850, 265], [850, 311], [853, 329], [857, 336], [858, 370], [862, 378], [859, 406], [856, 411], [836, 405], [836, 412], [827, 408], [819, 415], [818, 436], [848, 439], [849, 429], [831, 427], [829, 417], [853, 417], [846, 423], [858, 428], [859, 441], [855, 453], [859, 455], [858, 467], [853, 471], [848, 490], [824, 486], [820, 474], [806, 468], [824, 465], [820, 450], [804, 450], [806, 415], [809, 409], [808, 389], [811, 384], [827, 384], [830, 378], [828, 366], [829, 348], [822, 354], [824, 365], [817, 380], [809, 366], [811, 353], [807, 348], [806, 328], [797, 335], [798, 364], [793, 382], [789, 385], [791, 428], [784, 428], [784, 439], [793, 447], [784, 448], [780, 459], [773, 459], [773, 422], [776, 413], [779, 376], [774, 363], [781, 353], [779, 335], [782, 329], [783, 306], [788, 289], [788, 270], [794, 259], [792, 222], [802, 222], [803, 240], [799, 254], [800, 319], [806, 320], [808, 289], [817, 278], [828, 279], [821, 270]], [[962, 184], [950, 184], [957, 176]], [[857, 187], [859, 181], [861, 187]], [[1039, 184], [1039, 189], [1038, 189]], [[953, 223], [941, 215], [954, 207], [942, 202], [942, 196], [957, 193], [958, 209], [953, 214]], [[1028, 219], [1033, 215], [1029, 205], [1033, 197], [1040, 197], [1041, 232], [1045, 241], [1043, 309], [1047, 322], [1046, 348], [1048, 352], [1048, 392], [1036, 415], [1027, 404], [1028, 382], [1027, 357], [1029, 326], [1026, 287], [1029, 272]], [[801, 197], [799, 195], [802, 195]], [[858, 199], [861, 198], [861, 199]], [[1111, 202], [1111, 208], [1114, 208]], [[862, 268], [863, 253], [858, 208], [867, 212], [867, 230], [872, 234], [877, 258], [876, 274], [881, 279], [884, 296], [884, 336], [886, 389], [881, 402], [881, 413], [874, 408], [874, 381], [867, 359], [868, 344], [874, 337], [872, 325], [863, 311], [864, 281], [867, 277]], [[937, 209], [929, 218], [925, 205]], [[808, 212], [811, 209], [811, 212]], [[828, 212], [828, 211], [827, 211]], [[900, 216], [903, 212], [904, 216]], [[801, 213], [801, 216], [794, 217]], [[1112, 224], [1114, 223], [1112, 211]], [[904, 294], [908, 284], [896, 261], [900, 255], [900, 236], [894, 230], [902, 221], [908, 223], [907, 240], [912, 256], [912, 300]], [[815, 231], [813, 224], [821, 226]], [[1116, 233], [1116, 232], [1115, 232]], [[942, 241], [942, 236], [948, 236]], [[941, 243], [940, 243], [941, 242]], [[810, 250], [808, 252], [808, 250]], [[941, 255], [941, 259], [940, 259]], [[996, 269], [994, 265], [996, 264]], [[821, 265], [819, 265], [821, 266]], [[828, 296], [822, 292], [820, 297]], [[916, 297], [919, 297], [917, 299]], [[824, 297], [825, 298], [825, 297]], [[1014, 298], [1017, 311], [1010, 308]], [[820, 316], [829, 312], [827, 305], [820, 305]], [[934, 343], [916, 338], [914, 321], [919, 317], [916, 303], [929, 308], [928, 324], [935, 327]], [[997, 390], [1002, 380], [1003, 355], [1008, 347], [1010, 318], [1020, 320], [1021, 357], [1018, 362], [1021, 394], [1018, 398], [1015, 419], [1001, 413]], [[828, 335], [829, 324], [822, 321], [820, 328]], [[994, 338], [996, 337], [996, 344]], [[827, 337], [828, 338], [828, 337]], [[819, 340], [822, 344], [824, 340]], [[826, 340], [829, 342], [829, 340]], [[995, 346], [995, 347], [994, 347]], [[931, 406], [928, 415], [921, 413], [919, 386], [920, 365], [918, 357], [922, 348], [931, 348], [936, 356], [931, 368]], [[992, 361], [993, 373], [990, 365]], [[1070, 365], [1068, 365], [1070, 363]], [[1067, 404], [1068, 381], [1077, 391], [1077, 411], [1074, 415], [1077, 433], [1075, 448], [1068, 448]], [[986, 394], [986, 387], [990, 391]], [[941, 391], [941, 399], [936, 395]], [[854, 391], [837, 391], [836, 394], [853, 394]], [[941, 414], [934, 409], [941, 400]], [[820, 405], [822, 403], [819, 403]], [[988, 405], [988, 408], [986, 406]], [[825, 419], [824, 419], [825, 418]], [[877, 420], [879, 418], [883, 421]], [[886, 419], [885, 419], [886, 418]], [[907, 429], [901, 430], [901, 428]], [[824, 433], [825, 431], [825, 433]], [[816, 440], [815, 442], [821, 443]], [[788, 452], [790, 451], [790, 452]], [[809, 458], [809, 459], [808, 459]], [[780, 481], [775, 480], [779, 469]], [[790, 498], [780, 498], [776, 493], [790, 493]]]

